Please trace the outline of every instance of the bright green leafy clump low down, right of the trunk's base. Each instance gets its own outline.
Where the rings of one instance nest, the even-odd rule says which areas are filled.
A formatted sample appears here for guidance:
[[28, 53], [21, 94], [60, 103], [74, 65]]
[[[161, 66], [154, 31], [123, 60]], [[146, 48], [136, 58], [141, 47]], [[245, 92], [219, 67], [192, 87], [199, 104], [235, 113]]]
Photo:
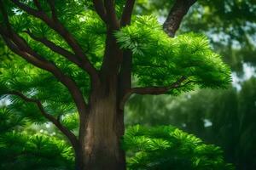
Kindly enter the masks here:
[[129, 169], [231, 170], [223, 151], [172, 126], [129, 127], [123, 147]]

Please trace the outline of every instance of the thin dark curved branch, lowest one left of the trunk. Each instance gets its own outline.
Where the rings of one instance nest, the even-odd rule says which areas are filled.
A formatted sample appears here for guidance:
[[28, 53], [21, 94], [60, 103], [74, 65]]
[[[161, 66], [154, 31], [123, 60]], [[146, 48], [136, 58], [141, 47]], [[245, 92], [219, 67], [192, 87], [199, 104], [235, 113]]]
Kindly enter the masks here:
[[74, 148], [79, 147], [79, 140], [76, 138], [76, 136], [70, 130], [68, 130], [67, 127], [64, 127], [59, 120], [55, 119], [54, 116], [49, 115], [44, 110], [44, 106], [42, 105], [40, 100], [28, 98], [24, 94], [21, 94], [20, 92], [17, 92], [17, 91], [11, 91], [7, 94], [19, 96], [21, 99], [25, 100], [26, 102], [36, 104], [38, 106], [38, 109], [41, 112], [42, 116], [44, 116], [46, 119], [48, 119], [49, 122], [52, 122], [55, 125], [55, 127], [57, 127], [61, 131], [61, 133], [64, 133], [64, 135], [67, 137], [67, 139], [69, 139], [71, 144], [73, 144]]

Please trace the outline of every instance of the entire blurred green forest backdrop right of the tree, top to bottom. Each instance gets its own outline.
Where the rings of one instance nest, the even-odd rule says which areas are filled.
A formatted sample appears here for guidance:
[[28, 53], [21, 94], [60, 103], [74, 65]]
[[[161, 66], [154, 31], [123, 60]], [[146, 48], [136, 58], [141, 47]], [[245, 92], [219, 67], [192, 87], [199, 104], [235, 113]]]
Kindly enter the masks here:
[[[152, 11], [161, 21], [172, 1], [154, 1], [137, 8]], [[166, 5], [168, 4], [168, 5]], [[157, 7], [165, 7], [161, 11]], [[211, 38], [212, 48], [232, 69], [232, 86], [202, 89], [178, 97], [133, 96], [126, 107], [126, 126], [172, 124], [224, 149], [237, 169], [256, 169], [256, 2], [253, 0], [198, 1], [178, 33], [195, 31]]]

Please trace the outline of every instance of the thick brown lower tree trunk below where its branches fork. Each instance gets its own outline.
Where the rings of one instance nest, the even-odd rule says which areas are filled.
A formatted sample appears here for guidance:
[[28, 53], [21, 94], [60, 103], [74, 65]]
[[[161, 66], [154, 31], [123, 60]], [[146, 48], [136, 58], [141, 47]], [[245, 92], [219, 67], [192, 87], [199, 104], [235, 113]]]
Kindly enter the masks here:
[[115, 85], [109, 84], [91, 95], [90, 114], [80, 129], [82, 154], [76, 153], [79, 170], [125, 169], [125, 152], [120, 147], [124, 116], [117, 107], [116, 90]]

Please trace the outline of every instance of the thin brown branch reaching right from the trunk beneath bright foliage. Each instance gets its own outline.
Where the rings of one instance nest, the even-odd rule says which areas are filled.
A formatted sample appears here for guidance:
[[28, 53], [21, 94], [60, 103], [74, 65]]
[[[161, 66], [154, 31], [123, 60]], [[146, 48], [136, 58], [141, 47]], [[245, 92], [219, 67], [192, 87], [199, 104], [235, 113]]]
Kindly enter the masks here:
[[123, 99], [121, 99], [119, 104], [119, 109], [123, 110], [125, 107], [125, 102], [130, 98], [131, 94], [154, 94], [154, 95], [160, 95], [160, 94], [166, 94], [169, 90], [173, 88], [181, 88], [181, 83], [184, 82], [187, 79], [187, 77], [181, 77], [177, 80], [177, 82], [172, 83], [170, 86], [166, 87], [148, 87], [148, 88], [131, 88], [128, 90]]

